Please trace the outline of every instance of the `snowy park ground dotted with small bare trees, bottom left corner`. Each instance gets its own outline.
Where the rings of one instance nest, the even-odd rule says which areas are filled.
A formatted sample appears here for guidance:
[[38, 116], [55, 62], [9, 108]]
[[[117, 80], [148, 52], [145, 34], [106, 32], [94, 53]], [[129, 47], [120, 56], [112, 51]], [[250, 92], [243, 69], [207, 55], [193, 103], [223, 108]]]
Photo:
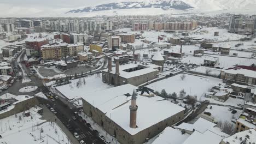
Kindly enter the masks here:
[[42, 116], [37, 111], [33, 107], [29, 110], [31, 116], [24, 117], [21, 112], [16, 113], [16, 116], [1, 119], [0, 143], [68, 143], [67, 136], [61, 128], [56, 123], [40, 119]]

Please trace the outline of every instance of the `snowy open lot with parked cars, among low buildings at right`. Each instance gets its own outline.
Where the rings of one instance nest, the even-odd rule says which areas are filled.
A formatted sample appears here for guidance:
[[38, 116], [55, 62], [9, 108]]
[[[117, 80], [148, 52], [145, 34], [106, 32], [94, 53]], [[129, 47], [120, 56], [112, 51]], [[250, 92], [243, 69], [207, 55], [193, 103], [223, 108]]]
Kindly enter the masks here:
[[[212, 106], [212, 109], [210, 107]], [[225, 106], [218, 106], [218, 105], [208, 105], [208, 108], [205, 110], [206, 112], [212, 113], [212, 117], [214, 117], [215, 121], [228, 121], [231, 122], [232, 119], [237, 119], [240, 114], [242, 113], [242, 110], [237, 110], [236, 113], [232, 114], [231, 111], [228, 111], [229, 107]]]

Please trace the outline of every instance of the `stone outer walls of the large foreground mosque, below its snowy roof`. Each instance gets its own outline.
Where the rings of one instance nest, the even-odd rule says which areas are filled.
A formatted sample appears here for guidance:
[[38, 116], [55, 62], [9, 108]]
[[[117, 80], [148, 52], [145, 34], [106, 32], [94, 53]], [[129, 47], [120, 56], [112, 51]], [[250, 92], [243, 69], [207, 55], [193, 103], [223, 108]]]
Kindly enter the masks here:
[[[106, 130], [108, 134], [112, 136], [115, 135], [115, 137], [121, 144], [141, 144], [145, 142], [147, 138], [150, 139], [154, 137], [155, 135], [161, 133], [161, 131], [163, 131], [166, 127], [170, 127], [174, 123], [177, 123], [184, 118], [184, 111], [181, 111], [176, 115], [164, 119], [163, 121], [156, 123], [135, 135], [131, 135], [84, 99], [83, 110], [86, 115], [90, 116], [94, 120], [94, 122], [100, 125], [104, 130]], [[124, 113], [124, 115], [130, 115], [130, 113]], [[129, 123], [127, 125], [129, 125]]]

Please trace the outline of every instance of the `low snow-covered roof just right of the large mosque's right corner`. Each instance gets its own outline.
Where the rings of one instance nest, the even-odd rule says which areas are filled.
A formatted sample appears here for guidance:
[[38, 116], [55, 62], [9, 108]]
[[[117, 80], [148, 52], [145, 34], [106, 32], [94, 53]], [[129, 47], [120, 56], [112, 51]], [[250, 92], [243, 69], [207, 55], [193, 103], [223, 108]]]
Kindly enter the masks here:
[[212, 129], [215, 127], [216, 124], [212, 123], [210, 121], [207, 121], [206, 119], [199, 118], [194, 124], [190, 123], [182, 123], [177, 126], [178, 129], [193, 131], [193, 129], [199, 131], [200, 133], [204, 133], [208, 129]]

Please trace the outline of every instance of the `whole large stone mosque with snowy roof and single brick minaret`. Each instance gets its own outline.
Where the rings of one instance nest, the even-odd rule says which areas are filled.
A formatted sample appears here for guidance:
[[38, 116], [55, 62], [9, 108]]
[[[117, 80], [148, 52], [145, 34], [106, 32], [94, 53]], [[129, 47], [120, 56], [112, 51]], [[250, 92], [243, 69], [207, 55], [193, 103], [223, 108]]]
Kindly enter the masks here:
[[83, 111], [119, 143], [141, 144], [184, 117], [183, 107], [144, 94], [130, 84], [96, 91], [82, 97]]

